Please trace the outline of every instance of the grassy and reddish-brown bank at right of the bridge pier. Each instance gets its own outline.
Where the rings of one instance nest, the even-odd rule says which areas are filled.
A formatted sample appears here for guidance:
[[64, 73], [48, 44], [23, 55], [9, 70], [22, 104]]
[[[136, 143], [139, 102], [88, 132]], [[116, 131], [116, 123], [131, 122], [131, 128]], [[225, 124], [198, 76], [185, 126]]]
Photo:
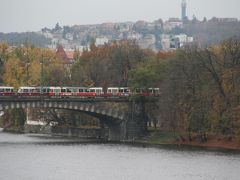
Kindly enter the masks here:
[[139, 142], [148, 145], [178, 145], [240, 151], [240, 139], [228, 136], [212, 135], [208, 136], [207, 140], [203, 142], [198, 138], [193, 138], [191, 141], [187, 140], [187, 138], [180, 140], [169, 132], [151, 131]]

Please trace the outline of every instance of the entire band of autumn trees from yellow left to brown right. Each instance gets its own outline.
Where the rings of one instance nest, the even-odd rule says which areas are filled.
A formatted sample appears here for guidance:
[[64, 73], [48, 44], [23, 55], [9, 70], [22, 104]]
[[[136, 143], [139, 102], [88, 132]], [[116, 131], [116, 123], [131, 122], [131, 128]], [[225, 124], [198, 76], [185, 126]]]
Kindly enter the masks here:
[[75, 51], [66, 66], [54, 51], [31, 45], [0, 45], [0, 82], [19, 87], [44, 85], [159, 87], [161, 96], [146, 107], [156, 128], [183, 138], [209, 134], [240, 137], [240, 39], [207, 48], [186, 46], [171, 52], [142, 50], [134, 41]]

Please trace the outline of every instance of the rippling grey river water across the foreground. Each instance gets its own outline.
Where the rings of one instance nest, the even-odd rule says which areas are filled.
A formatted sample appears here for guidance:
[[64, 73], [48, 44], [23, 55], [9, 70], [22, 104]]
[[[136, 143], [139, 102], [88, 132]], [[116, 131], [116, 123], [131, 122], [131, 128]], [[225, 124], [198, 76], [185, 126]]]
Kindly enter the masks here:
[[239, 180], [240, 154], [0, 132], [0, 180]]

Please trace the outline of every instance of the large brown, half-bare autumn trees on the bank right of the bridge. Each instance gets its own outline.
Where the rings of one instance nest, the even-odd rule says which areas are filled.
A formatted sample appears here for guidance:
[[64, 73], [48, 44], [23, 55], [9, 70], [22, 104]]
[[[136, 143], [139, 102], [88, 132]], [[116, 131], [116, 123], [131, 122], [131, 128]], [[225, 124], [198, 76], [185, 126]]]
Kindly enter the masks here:
[[174, 132], [239, 134], [239, 40], [208, 48], [185, 47], [170, 59], [160, 100], [161, 116]]

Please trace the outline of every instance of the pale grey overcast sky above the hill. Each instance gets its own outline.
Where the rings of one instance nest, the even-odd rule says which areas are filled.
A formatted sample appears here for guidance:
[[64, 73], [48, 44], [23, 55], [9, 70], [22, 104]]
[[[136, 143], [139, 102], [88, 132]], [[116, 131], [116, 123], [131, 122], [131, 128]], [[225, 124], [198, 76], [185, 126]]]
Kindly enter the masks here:
[[[182, 0], [0, 0], [0, 32], [181, 16]], [[187, 16], [240, 19], [240, 0], [186, 0]]]

